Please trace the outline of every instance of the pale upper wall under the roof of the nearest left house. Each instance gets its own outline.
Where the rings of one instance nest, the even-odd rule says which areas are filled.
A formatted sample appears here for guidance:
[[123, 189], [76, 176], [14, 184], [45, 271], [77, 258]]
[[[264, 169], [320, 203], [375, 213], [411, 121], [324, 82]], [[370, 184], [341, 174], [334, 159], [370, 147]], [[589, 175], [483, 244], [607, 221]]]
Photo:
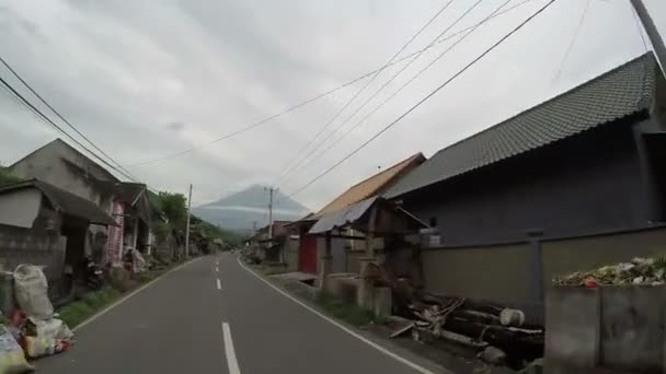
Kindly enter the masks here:
[[0, 224], [26, 227], [39, 214], [42, 192], [35, 188], [24, 188], [0, 196]]

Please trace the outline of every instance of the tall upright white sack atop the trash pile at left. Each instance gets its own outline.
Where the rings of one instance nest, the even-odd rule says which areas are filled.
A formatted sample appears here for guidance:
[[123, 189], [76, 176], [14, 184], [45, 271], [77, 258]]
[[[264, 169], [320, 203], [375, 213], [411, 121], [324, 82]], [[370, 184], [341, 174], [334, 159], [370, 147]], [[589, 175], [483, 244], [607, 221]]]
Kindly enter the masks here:
[[28, 317], [50, 319], [54, 316], [48, 282], [39, 267], [19, 265], [14, 270], [14, 291], [19, 306]]

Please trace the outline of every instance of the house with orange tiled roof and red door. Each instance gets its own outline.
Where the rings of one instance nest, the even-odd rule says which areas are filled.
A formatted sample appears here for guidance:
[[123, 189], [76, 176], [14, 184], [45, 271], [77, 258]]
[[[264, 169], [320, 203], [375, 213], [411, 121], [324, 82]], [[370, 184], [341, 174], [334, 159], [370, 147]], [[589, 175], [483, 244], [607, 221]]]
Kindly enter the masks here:
[[[319, 259], [323, 254], [325, 244], [324, 238], [309, 235], [308, 232], [320, 219], [329, 214], [335, 214], [365, 199], [381, 195], [424, 161], [425, 156], [421, 153], [411, 155], [391, 167], [349, 187], [318, 212], [290, 224], [289, 227], [298, 232], [300, 237], [298, 269], [309, 273], [317, 273], [319, 270]], [[355, 231], [353, 227], [347, 227], [345, 236], [356, 238], [336, 237], [332, 241], [331, 272], [359, 272], [358, 257], [361, 257], [365, 249], [363, 233]]]

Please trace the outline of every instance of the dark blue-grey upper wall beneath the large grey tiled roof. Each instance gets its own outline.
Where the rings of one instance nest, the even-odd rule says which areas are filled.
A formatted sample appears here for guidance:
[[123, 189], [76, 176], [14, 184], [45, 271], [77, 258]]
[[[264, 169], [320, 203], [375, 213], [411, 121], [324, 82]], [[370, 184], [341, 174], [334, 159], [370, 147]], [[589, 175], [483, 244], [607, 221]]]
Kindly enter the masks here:
[[632, 230], [647, 224], [631, 124], [587, 131], [400, 197], [441, 243], [471, 246]]

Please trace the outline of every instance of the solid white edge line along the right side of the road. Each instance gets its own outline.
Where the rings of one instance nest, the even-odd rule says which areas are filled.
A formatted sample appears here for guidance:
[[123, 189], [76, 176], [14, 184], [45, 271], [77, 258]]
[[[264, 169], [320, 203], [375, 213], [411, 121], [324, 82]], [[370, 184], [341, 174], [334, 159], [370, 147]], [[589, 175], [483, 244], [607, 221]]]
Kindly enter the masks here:
[[[248, 265], [245, 265], [243, 261], [241, 261], [240, 257], [237, 258], [238, 264], [241, 266], [241, 268], [243, 268], [245, 271], [248, 271], [249, 273], [253, 274], [254, 277], [256, 277], [259, 280], [265, 282], [268, 287], [271, 287], [272, 289], [274, 289], [275, 291], [279, 292], [280, 294], [283, 294], [285, 297], [291, 300], [292, 302], [295, 302], [296, 304], [299, 304], [300, 306], [305, 307], [306, 309], [308, 309], [309, 312], [315, 314], [318, 317], [325, 319], [326, 322], [329, 322], [330, 324], [334, 325], [335, 327], [340, 328], [341, 330], [347, 332], [348, 335], [353, 336], [354, 338], [365, 342], [366, 344], [375, 348], [376, 350], [378, 350], [379, 352], [388, 355], [389, 358], [406, 365], [407, 367], [413, 369], [414, 371], [422, 373], [422, 374], [436, 374], [436, 373], [443, 373], [443, 374], [455, 374], [453, 372], [451, 372], [450, 370], [435, 363], [432, 362], [425, 358], [418, 358], [418, 361], [427, 361], [428, 365], [427, 366], [433, 366], [432, 369], [436, 369], [435, 371], [430, 370], [430, 369], [426, 369], [425, 366], [415, 363], [414, 361], [404, 358], [401, 354], [398, 354], [395, 352], [393, 352], [394, 350], [397, 350], [394, 347], [390, 347], [387, 348], [383, 344], [381, 344], [380, 342], [377, 342], [376, 340], [379, 340], [377, 338], [372, 338], [372, 337], [368, 337], [366, 335], [368, 334], [364, 334], [363, 330], [359, 330], [358, 328], [335, 319], [334, 317], [328, 316], [325, 315], [324, 312], [320, 311], [315, 305], [311, 305], [311, 302], [309, 301], [305, 301], [301, 300], [298, 296], [292, 295], [289, 291], [287, 291], [282, 284], [279, 284], [278, 282], [274, 282], [272, 281], [268, 276], [264, 276], [262, 273], [256, 272], [254, 269], [252, 269], [251, 267], [249, 267]], [[401, 350], [401, 349], [399, 349]], [[413, 355], [413, 354], [409, 354], [409, 355]]]

